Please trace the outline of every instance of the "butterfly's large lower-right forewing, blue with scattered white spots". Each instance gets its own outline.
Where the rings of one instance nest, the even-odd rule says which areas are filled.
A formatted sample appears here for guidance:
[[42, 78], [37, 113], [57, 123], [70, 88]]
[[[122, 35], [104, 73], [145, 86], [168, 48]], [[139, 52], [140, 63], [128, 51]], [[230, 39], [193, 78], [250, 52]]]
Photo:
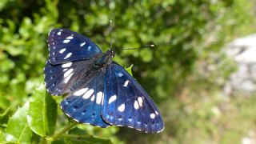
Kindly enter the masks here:
[[157, 106], [142, 86], [116, 62], [106, 68], [102, 118], [111, 125], [146, 133], [164, 129]]

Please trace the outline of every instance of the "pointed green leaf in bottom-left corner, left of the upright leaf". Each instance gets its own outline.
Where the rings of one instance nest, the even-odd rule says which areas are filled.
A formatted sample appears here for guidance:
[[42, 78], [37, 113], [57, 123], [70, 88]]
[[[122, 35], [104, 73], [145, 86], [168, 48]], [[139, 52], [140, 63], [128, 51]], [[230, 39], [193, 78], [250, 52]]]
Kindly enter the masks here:
[[6, 141], [30, 143], [32, 131], [26, 121], [28, 108], [29, 102], [22, 106], [22, 108], [18, 108], [15, 114], [10, 118], [6, 128]]

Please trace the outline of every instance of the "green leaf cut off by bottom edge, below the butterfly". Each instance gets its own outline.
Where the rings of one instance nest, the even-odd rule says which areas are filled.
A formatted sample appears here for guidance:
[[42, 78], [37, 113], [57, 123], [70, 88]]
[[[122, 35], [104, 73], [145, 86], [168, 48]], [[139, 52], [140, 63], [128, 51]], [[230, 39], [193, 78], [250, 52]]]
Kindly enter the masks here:
[[65, 142], [69, 144], [79, 144], [79, 143], [103, 143], [108, 144], [112, 143], [109, 139], [103, 139], [103, 138], [95, 138], [89, 134], [66, 134], [65, 136]]

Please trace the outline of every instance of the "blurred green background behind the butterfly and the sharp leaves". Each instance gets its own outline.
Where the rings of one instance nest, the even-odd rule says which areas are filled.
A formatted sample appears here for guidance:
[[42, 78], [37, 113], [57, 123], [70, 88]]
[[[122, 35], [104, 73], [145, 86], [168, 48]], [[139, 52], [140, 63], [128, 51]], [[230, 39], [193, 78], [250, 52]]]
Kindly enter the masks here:
[[[86, 35], [128, 67], [162, 112], [161, 134], [81, 126], [115, 143], [256, 143], [256, 1], [0, 1], [0, 130], [43, 82], [50, 29]], [[155, 44], [155, 49], [122, 50]], [[59, 101], [59, 100], [57, 100]], [[57, 126], [65, 125], [61, 112]]]

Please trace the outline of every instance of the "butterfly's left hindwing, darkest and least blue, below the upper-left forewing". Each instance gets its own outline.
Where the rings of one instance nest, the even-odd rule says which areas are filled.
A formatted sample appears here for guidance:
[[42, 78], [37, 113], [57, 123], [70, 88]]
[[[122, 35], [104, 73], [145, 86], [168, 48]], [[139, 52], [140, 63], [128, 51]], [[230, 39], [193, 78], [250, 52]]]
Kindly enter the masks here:
[[47, 60], [44, 68], [46, 90], [52, 95], [62, 95], [78, 89], [93, 77], [90, 73], [92, 61], [89, 59], [52, 65]]

